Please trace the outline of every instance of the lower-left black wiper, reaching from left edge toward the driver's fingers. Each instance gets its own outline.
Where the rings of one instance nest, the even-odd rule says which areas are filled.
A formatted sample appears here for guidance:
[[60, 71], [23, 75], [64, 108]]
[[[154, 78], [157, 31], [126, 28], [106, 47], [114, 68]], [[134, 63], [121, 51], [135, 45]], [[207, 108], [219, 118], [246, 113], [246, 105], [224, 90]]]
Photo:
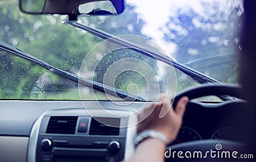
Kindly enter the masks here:
[[45, 68], [46, 70], [49, 70], [52, 73], [55, 73], [56, 75], [67, 78], [68, 80], [72, 80], [86, 87], [90, 87], [96, 91], [103, 92], [105, 94], [109, 94], [111, 96], [115, 96], [120, 99], [125, 99], [127, 101], [145, 101], [145, 99], [141, 98], [140, 96], [134, 96], [120, 89], [116, 89], [108, 85], [100, 84], [99, 82], [95, 82], [93, 80], [79, 77], [77, 75], [74, 75], [73, 73], [69, 73], [59, 68], [55, 68], [54, 66], [51, 66], [50, 64], [47, 64], [44, 61], [41, 61], [40, 59], [33, 57], [32, 55], [26, 54], [26, 52], [20, 50], [19, 48], [13, 47], [12, 45], [8, 45], [4, 42], [0, 42], [0, 50], [4, 50], [6, 52], [9, 52], [12, 55], [16, 55], [17, 57], [20, 57], [32, 63], [38, 64], [42, 68]]

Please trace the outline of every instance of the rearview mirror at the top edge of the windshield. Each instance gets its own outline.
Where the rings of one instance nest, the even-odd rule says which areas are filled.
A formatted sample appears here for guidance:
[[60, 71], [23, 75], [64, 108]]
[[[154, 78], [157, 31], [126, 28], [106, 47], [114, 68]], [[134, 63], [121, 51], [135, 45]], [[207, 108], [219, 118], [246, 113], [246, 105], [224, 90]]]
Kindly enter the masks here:
[[115, 15], [124, 11], [124, 0], [19, 0], [29, 14]]

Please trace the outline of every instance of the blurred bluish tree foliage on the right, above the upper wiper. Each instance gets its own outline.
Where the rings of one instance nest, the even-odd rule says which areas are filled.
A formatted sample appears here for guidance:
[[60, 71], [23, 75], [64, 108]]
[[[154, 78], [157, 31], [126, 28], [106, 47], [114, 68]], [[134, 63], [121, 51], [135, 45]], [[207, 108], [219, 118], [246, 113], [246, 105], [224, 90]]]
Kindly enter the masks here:
[[[231, 5], [226, 10], [219, 10], [220, 4], [216, 2], [210, 6], [207, 3], [211, 2], [204, 3], [205, 15], [180, 9], [179, 15], [170, 17], [166, 27], [172, 27], [169, 27], [165, 40], [177, 45], [175, 56], [180, 63], [220, 82], [235, 84], [241, 8]], [[177, 29], [182, 29], [183, 33]]]

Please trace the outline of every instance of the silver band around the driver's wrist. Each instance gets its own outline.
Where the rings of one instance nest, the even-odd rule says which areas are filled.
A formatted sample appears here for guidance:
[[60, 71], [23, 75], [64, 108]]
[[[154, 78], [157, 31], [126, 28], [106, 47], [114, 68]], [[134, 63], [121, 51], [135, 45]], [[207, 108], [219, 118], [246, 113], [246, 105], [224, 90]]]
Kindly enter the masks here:
[[136, 138], [134, 140], [134, 145], [137, 146], [138, 144], [140, 144], [143, 140], [145, 140], [147, 138], [157, 138], [157, 139], [161, 140], [165, 145], [168, 145], [168, 140], [167, 140], [166, 136], [164, 136], [163, 133], [161, 133], [159, 131], [155, 131], [153, 129], [141, 131], [141, 133], [139, 133], [136, 136]]

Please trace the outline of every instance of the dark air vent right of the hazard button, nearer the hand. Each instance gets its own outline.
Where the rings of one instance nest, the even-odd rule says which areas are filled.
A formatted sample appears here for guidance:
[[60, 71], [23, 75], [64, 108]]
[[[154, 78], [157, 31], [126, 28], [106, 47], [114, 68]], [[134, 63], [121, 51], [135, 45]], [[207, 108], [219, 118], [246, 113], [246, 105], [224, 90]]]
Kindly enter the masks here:
[[[104, 123], [100, 123], [100, 122]], [[90, 126], [90, 135], [119, 135], [119, 128], [118, 127], [112, 127], [112, 126], [119, 126], [120, 125], [120, 119], [118, 118], [100, 118], [95, 120], [92, 118], [91, 126]], [[110, 126], [106, 126], [110, 125]]]

